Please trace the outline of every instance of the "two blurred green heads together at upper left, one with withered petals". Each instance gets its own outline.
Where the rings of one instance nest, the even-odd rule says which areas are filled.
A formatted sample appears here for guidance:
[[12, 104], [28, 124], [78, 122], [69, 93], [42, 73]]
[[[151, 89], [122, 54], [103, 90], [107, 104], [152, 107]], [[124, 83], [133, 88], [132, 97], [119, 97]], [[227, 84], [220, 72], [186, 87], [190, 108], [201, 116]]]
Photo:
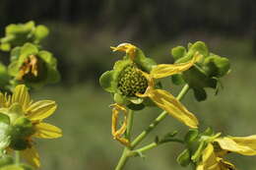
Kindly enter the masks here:
[[48, 32], [48, 28], [33, 22], [6, 27], [0, 50], [10, 52], [10, 63], [0, 63], [2, 90], [12, 90], [20, 84], [36, 88], [60, 80], [56, 58], [39, 44]]

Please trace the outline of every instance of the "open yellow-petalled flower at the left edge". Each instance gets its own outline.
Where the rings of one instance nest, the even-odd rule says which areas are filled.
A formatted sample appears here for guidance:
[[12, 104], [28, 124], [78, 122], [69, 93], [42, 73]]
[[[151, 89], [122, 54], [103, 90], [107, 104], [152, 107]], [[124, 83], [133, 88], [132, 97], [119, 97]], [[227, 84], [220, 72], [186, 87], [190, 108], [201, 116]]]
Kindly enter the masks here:
[[[23, 126], [25, 121], [26, 125], [32, 125], [29, 128], [27, 126], [25, 132], [20, 132], [25, 134], [14, 135], [14, 140], [11, 140], [7, 150], [20, 150], [22, 156], [28, 162], [35, 167], [39, 167], [39, 155], [33, 147], [32, 138], [55, 139], [62, 136], [59, 128], [42, 122], [53, 114], [56, 108], [57, 105], [52, 100], [32, 102], [28, 88], [25, 85], [17, 85], [13, 95], [4, 95], [0, 92], [0, 112], [9, 116], [11, 126], [15, 127], [17, 124]], [[17, 142], [17, 140], [21, 141]], [[25, 145], [21, 146], [21, 142]]]

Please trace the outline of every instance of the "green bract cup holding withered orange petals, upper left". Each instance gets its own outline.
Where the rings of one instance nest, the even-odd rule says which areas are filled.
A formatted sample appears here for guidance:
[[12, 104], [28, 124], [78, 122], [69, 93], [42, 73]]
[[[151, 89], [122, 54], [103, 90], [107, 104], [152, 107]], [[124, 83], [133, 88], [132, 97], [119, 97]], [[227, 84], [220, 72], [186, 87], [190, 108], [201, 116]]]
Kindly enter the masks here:
[[12, 50], [8, 73], [13, 77], [15, 84], [32, 87], [56, 83], [60, 79], [57, 61], [53, 55], [48, 51], [39, 50], [32, 43]]

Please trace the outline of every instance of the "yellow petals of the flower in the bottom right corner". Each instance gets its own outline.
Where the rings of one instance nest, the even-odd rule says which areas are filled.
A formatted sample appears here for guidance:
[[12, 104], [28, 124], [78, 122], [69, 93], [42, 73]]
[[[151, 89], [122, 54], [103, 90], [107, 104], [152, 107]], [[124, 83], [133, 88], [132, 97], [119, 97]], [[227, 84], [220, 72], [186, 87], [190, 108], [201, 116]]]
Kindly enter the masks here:
[[[214, 146], [215, 143], [218, 145]], [[224, 154], [228, 152], [250, 156], [256, 155], [256, 136], [224, 137], [208, 143], [197, 170], [235, 170], [233, 164], [223, 159]]]

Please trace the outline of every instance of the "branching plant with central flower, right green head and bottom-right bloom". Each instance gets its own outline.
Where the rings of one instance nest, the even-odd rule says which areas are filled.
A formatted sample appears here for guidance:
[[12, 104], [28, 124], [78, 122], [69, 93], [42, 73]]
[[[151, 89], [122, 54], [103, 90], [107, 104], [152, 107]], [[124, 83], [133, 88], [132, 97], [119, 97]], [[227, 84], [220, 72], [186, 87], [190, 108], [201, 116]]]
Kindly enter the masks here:
[[[218, 94], [223, 86], [221, 78], [230, 71], [227, 58], [210, 52], [202, 41], [189, 43], [187, 49], [183, 46], [172, 48], [174, 64], [157, 64], [130, 43], [121, 43], [111, 49], [125, 53], [112, 70], [99, 78], [101, 87], [114, 101], [110, 105], [113, 139], [124, 145], [115, 170], [123, 169], [130, 157], [143, 157], [145, 151], [165, 142], [183, 144], [185, 149], [176, 160], [181, 166], [190, 165], [195, 170], [234, 170], [235, 166], [224, 159], [229, 152], [256, 155], [255, 136], [222, 137], [211, 128], [202, 132], [196, 116], [180, 102], [189, 89], [194, 91], [198, 101], [207, 99], [206, 88], [213, 88]], [[174, 85], [183, 85], [176, 97], [162, 88], [161, 78], [166, 77], [170, 77]], [[159, 107], [162, 112], [140, 135], [132, 138], [134, 112], [147, 107]], [[122, 123], [118, 119], [121, 113], [124, 114]], [[178, 131], [174, 131], [138, 148], [167, 115], [188, 127], [185, 137], [178, 138]], [[117, 126], [120, 123], [121, 126]]]

